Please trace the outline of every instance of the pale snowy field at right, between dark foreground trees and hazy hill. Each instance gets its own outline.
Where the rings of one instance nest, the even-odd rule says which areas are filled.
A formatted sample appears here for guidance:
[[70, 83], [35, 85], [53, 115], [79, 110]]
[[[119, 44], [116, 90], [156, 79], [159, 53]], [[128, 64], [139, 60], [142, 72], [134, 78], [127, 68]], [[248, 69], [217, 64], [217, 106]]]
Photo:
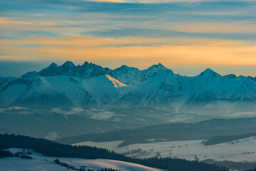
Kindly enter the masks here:
[[118, 147], [121, 141], [114, 142], [80, 142], [74, 145], [104, 147], [130, 157], [178, 157], [186, 160], [213, 159], [216, 161], [230, 160], [234, 162], [256, 162], [256, 138], [245, 138], [218, 145], [203, 145], [203, 140], [152, 142]]

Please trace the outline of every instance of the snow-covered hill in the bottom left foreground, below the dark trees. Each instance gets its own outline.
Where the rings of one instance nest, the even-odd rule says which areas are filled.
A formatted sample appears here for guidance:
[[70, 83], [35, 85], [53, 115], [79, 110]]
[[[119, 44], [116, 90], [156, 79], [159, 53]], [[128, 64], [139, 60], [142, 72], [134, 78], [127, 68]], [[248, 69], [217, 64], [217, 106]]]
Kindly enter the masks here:
[[[10, 148], [11, 152], [22, 151], [22, 149]], [[67, 170], [66, 167], [57, 165], [53, 162], [56, 158], [61, 162], [66, 162], [69, 166], [74, 166], [76, 168], [83, 167], [86, 170], [101, 170], [102, 168], [112, 168], [115, 170], [121, 171], [164, 171], [160, 169], [155, 169], [152, 167], [146, 167], [143, 165], [138, 165], [130, 162], [121, 162], [118, 160], [86, 160], [81, 158], [72, 158], [72, 157], [48, 157], [40, 153], [30, 150], [33, 155], [33, 160], [24, 159], [21, 157], [5, 157], [0, 159], [0, 170], [4, 171], [34, 171], [34, 170], [43, 170], [43, 171], [63, 171]]]

